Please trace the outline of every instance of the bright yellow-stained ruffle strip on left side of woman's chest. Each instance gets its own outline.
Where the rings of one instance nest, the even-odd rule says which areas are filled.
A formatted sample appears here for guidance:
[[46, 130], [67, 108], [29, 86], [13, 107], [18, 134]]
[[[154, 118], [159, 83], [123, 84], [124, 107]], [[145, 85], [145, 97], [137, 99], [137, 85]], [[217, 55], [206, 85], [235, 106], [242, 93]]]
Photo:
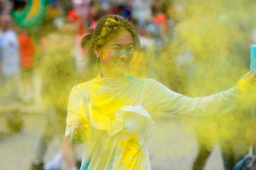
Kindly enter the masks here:
[[85, 127], [85, 137], [90, 143], [92, 126], [108, 131], [109, 136], [113, 136], [122, 130], [123, 124], [119, 120], [111, 120], [109, 117], [102, 115], [92, 109], [92, 105], [87, 103], [84, 105], [81, 99], [78, 107], [78, 116], [83, 120], [83, 126]]

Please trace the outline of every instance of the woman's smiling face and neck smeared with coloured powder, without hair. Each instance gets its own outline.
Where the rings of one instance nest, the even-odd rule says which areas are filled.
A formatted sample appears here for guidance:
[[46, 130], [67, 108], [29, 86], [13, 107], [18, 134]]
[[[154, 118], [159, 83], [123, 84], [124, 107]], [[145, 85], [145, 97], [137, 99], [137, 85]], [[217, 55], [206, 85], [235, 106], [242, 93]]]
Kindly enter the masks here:
[[129, 31], [122, 30], [101, 48], [100, 63], [105, 77], [120, 77], [127, 71], [133, 58], [133, 38]]

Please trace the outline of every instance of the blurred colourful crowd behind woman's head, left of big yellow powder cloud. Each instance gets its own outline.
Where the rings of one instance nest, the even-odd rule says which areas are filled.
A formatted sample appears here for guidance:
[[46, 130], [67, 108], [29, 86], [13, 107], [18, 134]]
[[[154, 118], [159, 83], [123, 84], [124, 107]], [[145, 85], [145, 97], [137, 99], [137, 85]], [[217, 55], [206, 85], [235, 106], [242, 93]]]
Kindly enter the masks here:
[[[36, 96], [33, 96], [35, 95], [35, 89], [32, 77], [35, 74], [40, 74], [41, 70], [39, 68], [44, 63], [44, 56], [51, 53], [49, 48], [53, 51], [55, 48], [59, 48], [54, 41], [58, 41], [56, 37], [60, 32], [70, 35], [70, 43], [66, 45], [70, 47], [69, 52], [72, 53], [75, 60], [76, 74], [89, 78], [94, 75], [85, 74], [85, 70], [90, 67], [90, 62], [93, 62], [93, 59], [79, 63], [86, 56], [84, 55], [86, 50], [80, 49], [79, 42], [85, 30], [89, 27], [95, 28], [97, 21], [102, 16], [120, 14], [131, 19], [137, 25], [138, 32], [140, 32], [142, 50], [154, 47], [157, 49], [154, 51], [159, 51], [159, 53], [167, 42], [167, 37], [170, 36], [169, 30], [173, 25], [173, 21], [166, 14], [165, 7], [168, 4], [163, 4], [161, 1], [51, 0], [45, 1], [49, 4], [44, 23], [23, 28], [22, 25], [19, 25], [19, 21], [12, 17], [12, 13], [13, 11], [26, 10], [33, 5], [33, 1], [31, 2], [30, 4], [26, 0], [2, 0], [0, 2], [0, 13], [2, 14], [1, 40], [3, 42], [1, 46], [1, 53], [3, 53], [1, 55], [1, 75], [3, 79], [9, 77], [8, 80], [4, 81], [5, 83], [2, 82], [1, 87], [3, 87], [2, 89], [7, 87], [10, 87], [8, 88], [10, 90], [12, 89], [12, 92], [2, 90], [3, 93], [8, 94], [8, 97], [12, 97], [12, 101], [30, 102], [34, 100]], [[12, 41], [12, 43], [8, 44], [9, 41]], [[10, 46], [4, 45], [6, 43]], [[54, 45], [51, 46], [51, 43]], [[62, 43], [64, 42], [62, 41]], [[64, 44], [60, 44], [60, 46], [65, 48]], [[11, 59], [11, 57], [8, 57], [10, 54], [7, 53], [15, 53], [15, 55], [12, 55], [13, 58]], [[12, 83], [12, 81], [16, 81], [16, 83]], [[10, 103], [10, 101], [4, 101]]]

